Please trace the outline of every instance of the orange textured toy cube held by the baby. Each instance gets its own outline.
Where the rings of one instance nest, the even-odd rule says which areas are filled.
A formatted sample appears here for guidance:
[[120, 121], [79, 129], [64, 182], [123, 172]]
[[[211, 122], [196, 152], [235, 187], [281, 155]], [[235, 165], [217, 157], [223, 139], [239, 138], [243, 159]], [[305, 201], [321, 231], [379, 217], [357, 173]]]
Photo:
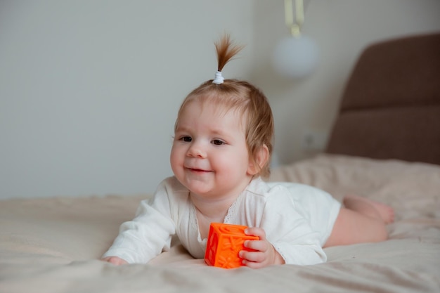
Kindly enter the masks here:
[[243, 246], [245, 240], [259, 240], [258, 236], [245, 234], [246, 226], [225, 223], [211, 223], [205, 252], [205, 262], [209, 266], [237, 268], [242, 266], [238, 257], [240, 250], [252, 251]]

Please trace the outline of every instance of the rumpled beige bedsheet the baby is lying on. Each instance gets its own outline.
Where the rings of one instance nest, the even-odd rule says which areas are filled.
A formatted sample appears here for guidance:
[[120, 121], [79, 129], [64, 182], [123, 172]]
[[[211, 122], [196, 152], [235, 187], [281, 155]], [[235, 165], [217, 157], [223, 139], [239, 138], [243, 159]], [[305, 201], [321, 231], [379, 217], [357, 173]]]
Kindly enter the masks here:
[[97, 259], [141, 196], [0, 201], [0, 292], [440, 292], [440, 166], [321, 155], [273, 181], [357, 193], [396, 209], [390, 239], [325, 249], [328, 262], [224, 270], [179, 242], [148, 264]]

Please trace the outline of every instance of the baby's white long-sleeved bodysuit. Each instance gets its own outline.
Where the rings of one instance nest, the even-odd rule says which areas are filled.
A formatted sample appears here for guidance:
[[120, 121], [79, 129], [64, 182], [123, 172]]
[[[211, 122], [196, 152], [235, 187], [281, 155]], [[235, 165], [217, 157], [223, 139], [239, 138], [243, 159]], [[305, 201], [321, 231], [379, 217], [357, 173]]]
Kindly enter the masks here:
[[[297, 183], [251, 181], [228, 209], [224, 223], [263, 228], [285, 263], [325, 262], [323, 245], [341, 204], [323, 190]], [[132, 221], [103, 255], [129, 263], [146, 263], [170, 248], [176, 234], [183, 247], [203, 259], [207, 240], [201, 239], [189, 191], [175, 177], [166, 178], [150, 200], [143, 200]]]

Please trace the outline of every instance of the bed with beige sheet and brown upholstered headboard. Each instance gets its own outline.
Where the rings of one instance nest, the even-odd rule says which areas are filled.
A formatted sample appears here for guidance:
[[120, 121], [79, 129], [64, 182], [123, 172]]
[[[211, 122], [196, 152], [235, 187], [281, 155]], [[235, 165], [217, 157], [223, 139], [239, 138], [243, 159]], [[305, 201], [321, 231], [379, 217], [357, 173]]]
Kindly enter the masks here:
[[440, 292], [440, 34], [365, 48], [328, 148], [268, 180], [389, 204], [389, 240], [259, 270], [207, 266], [174, 240], [150, 263], [113, 266], [98, 259], [150, 195], [2, 200], [0, 292]]

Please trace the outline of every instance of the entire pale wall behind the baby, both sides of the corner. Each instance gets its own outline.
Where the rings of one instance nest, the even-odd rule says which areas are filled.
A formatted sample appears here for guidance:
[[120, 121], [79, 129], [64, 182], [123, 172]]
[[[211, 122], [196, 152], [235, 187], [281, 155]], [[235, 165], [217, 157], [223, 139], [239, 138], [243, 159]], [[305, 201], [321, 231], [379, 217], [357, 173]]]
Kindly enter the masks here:
[[371, 41], [440, 31], [439, 0], [306, 0], [318, 70], [285, 81], [269, 62], [287, 36], [283, 0], [0, 1], [0, 198], [151, 193], [171, 174], [177, 108], [214, 77], [212, 42], [247, 44], [226, 77], [268, 96], [281, 163], [329, 131]]

